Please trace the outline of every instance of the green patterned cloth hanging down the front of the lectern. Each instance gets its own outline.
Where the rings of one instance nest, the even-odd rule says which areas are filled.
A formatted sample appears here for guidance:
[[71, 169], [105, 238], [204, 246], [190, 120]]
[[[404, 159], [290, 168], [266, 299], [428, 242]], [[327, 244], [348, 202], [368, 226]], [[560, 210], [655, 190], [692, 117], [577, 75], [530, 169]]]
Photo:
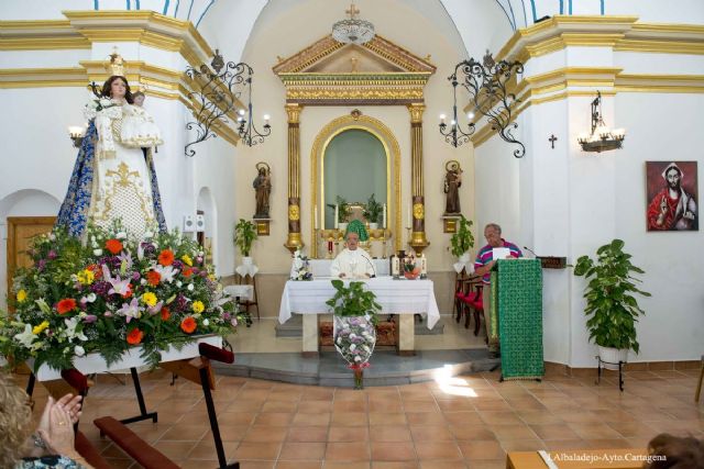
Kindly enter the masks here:
[[[537, 379], [542, 358], [542, 270], [538, 259], [496, 263], [492, 290], [497, 299], [504, 379]], [[496, 275], [496, 278], [494, 278]]]

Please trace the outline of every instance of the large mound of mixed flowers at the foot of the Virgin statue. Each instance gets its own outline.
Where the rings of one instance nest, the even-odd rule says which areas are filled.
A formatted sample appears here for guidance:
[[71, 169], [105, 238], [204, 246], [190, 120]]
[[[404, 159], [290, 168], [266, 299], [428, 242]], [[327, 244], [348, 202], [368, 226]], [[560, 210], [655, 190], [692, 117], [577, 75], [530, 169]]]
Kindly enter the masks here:
[[178, 232], [129, 239], [116, 224], [89, 226], [86, 238], [63, 230], [37, 236], [33, 266], [18, 270], [0, 315], [0, 353], [54, 369], [99, 353], [108, 365], [142, 346], [147, 365], [202, 334], [226, 336], [238, 324], [206, 253]]

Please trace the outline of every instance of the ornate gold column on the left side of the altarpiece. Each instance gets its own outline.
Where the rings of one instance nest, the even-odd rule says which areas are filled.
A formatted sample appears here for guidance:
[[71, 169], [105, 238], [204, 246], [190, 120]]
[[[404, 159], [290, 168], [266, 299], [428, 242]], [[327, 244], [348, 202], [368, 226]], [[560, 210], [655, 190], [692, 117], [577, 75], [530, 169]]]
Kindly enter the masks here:
[[292, 254], [304, 247], [300, 237], [300, 111], [302, 105], [286, 104], [288, 114], [288, 238], [286, 248]]

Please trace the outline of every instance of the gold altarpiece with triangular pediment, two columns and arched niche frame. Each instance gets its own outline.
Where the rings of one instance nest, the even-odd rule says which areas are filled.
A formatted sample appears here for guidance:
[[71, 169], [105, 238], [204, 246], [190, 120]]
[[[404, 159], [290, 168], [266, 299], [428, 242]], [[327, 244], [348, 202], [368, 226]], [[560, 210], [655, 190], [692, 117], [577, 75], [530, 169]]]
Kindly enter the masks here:
[[[341, 116], [324, 124], [317, 133], [310, 154], [310, 219], [315, 206], [322, 204], [321, 161], [330, 141], [340, 133], [358, 129], [373, 134], [384, 145], [387, 160], [387, 221], [394, 249], [402, 248], [403, 206], [413, 205], [409, 245], [420, 254], [430, 243], [425, 232], [425, 194], [422, 171], [422, 112], [424, 88], [436, 67], [393, 42], [376, 35], [363, 45], [341, 44], [326, 36], [273, 68], [286, 87], [288, 115], [288, 235], [284, 244], [292, 253], [304, 246], [300, 217], [300, 132], [299, 125], [309, 105], [341, 107]], [[403, 105], [408, 109], [410, 122], [410, 183], [402, 186], [402, 155], [394, 129], [382, 121], [349, 113], [355, 105]], [[345, 115], [346, 114], [346, 115]], [[405, 129], [404, 129], [405, 132]], [[405, 188], [409, 188], [404, 190]], [[311, 257], [317, 257], [318, 243], [314, 223], [310, 223]], [[324, 228], [324, 226], [322, 226]]]

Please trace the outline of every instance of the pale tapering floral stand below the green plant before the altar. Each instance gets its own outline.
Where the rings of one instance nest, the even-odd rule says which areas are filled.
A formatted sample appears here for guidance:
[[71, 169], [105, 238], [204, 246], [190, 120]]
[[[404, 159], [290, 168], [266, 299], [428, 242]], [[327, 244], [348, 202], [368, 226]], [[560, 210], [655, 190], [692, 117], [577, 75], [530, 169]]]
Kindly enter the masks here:
[[354, 389], [364, 388], [364, 368], [376, 345], [371, 316], [333, 316], [334, 348], [354, 371]]

